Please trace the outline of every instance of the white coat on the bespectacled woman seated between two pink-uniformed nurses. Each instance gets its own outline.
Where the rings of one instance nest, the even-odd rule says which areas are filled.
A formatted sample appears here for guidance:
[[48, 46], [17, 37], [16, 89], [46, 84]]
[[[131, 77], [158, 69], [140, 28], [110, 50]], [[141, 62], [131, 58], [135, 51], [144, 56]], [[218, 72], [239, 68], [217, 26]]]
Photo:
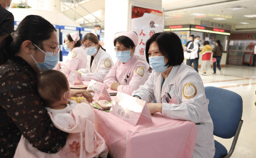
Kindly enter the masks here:
[[113, 61], [110, 55], [99, 47], [99, 50], [93, 59], [91, 66], [91, 56], [87, 56], [87, 67], [86, 69], [79, 69], [83, 74], [82, 80], [103, 82], [104, 78], [107, 76], [109, 70], [113, 66]]

